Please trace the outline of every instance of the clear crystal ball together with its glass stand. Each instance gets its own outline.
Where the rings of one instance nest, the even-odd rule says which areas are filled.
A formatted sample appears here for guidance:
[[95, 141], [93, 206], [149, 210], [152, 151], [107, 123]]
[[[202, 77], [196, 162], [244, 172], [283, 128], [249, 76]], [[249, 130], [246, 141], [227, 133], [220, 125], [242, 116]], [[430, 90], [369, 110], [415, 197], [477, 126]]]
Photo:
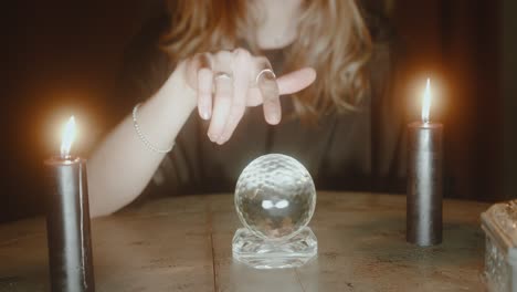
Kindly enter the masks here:
[[242, 171], [235, 209], [245, 228], [233, 237], [233, 258], [257, 269], [299, 267], [317, 253], [307, 223], [316, 207], [316, 189], [296, 159], [270, 154]]

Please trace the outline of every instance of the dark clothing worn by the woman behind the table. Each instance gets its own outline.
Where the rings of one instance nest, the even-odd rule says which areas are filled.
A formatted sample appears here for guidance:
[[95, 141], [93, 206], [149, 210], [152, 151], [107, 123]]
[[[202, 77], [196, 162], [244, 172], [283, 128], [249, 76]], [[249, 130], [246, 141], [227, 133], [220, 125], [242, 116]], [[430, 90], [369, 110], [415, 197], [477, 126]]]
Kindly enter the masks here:
[[[376, 31], [373, 34], [374, 51], [369, 64], [371, 94], [361, 111], [327, 114], [315, 125], [306, 125], [297, 117], [287, 117], [292, 116], [293, 106], [289, 97], [283, 96], [279, 125], [266, 124], [262, 106], [249, 108], [232, 138], [222, 146], [210, 142], [209, 123], [194, 111], [155, 175], [150, 185], [152, 196], [233, 191], [243, 168], [268, 153], [298, 159], [318, 189], [403, 190], [403, 118], [397, 112], [401, 106], [391, 94], [390, 77], [394, 71], [390, 38]], [[167, 55], [156, 46], [158, 35], [158, 32], [145, 34], [128, 52], [124, 101], [119, 103], [125, 113], [151, 96], [173, 70]], [[276, 72], [282, 65], [282, 52], [266, 52]]]

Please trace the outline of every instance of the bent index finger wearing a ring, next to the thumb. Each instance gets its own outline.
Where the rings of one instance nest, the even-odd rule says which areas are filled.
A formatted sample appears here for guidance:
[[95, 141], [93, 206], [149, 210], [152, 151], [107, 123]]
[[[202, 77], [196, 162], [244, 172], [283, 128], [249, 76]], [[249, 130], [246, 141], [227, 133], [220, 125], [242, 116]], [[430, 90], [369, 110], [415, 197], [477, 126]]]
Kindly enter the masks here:
[[282, 118], [282, 106], [276, 76], [267, 59], [257, 59], [257, 63], [261, 70], [256, 75], [256, 86], [261, 92], [264, 103], [264, 118], [268, 124], [276, 125]]

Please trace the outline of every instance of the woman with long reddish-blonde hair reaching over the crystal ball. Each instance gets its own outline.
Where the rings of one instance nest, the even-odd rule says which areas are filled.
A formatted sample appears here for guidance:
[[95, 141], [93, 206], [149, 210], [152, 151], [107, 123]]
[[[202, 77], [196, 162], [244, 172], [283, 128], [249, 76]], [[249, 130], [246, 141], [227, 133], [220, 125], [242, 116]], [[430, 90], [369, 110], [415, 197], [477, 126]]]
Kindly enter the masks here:
[[388, 66], [372, 67], [355, 0], [177, 0], [169, 11], [159, 65], [133, 70], [154, 72], [155, 85], [124, 96], [133, 114], [89, 159], [93, 216], [151, 179], [167, 194], [229, 191], [265, 153], [296, 157], [318, 188], [372, 189], [372, 177], [393, 173], [400, 123], [380, 96]]

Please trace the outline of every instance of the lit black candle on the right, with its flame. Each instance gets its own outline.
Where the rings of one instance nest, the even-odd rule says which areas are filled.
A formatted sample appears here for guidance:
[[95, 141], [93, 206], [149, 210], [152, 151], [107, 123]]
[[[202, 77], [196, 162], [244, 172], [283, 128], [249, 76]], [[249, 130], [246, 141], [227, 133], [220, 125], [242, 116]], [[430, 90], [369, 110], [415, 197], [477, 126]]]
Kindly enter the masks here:
[[422, 106], [422, 122], [408, 126], [407, 241], [418, 246], [442, 242], [443, 125], [431, 123], [430, 82]]

